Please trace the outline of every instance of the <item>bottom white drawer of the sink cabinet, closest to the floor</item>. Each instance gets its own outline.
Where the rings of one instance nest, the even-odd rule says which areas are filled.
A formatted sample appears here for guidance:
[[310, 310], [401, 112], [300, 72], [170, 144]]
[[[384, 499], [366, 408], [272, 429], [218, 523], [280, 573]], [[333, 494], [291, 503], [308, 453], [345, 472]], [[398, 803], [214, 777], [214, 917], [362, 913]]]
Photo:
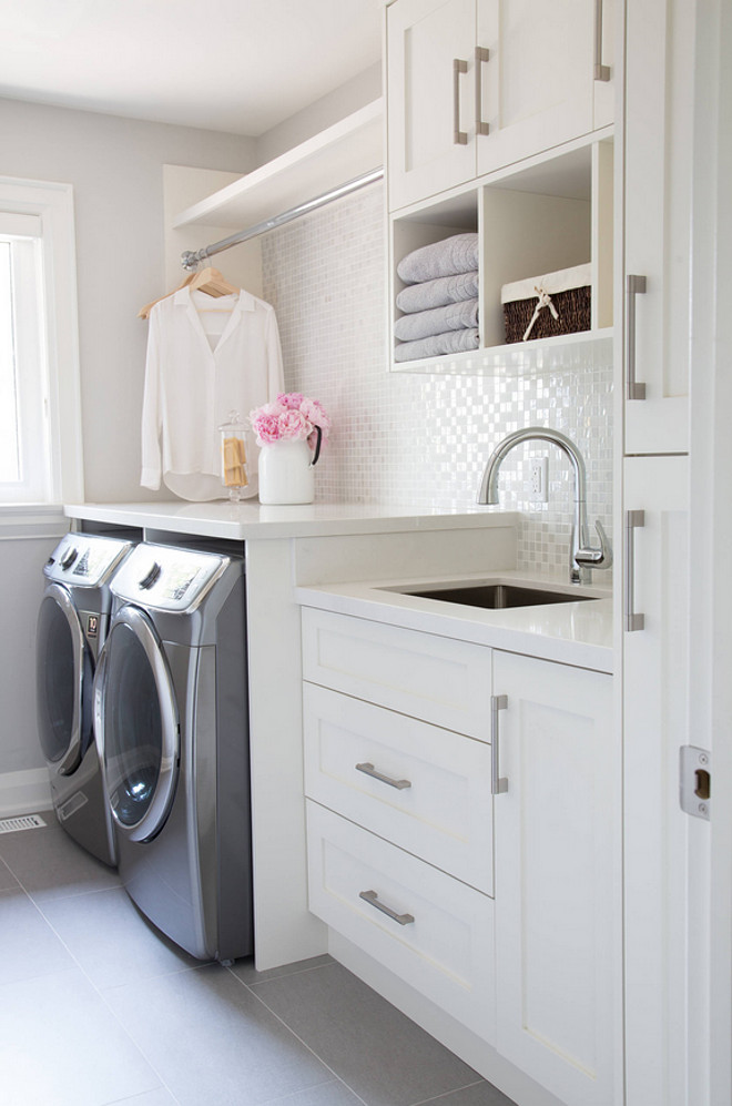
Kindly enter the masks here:
[[313, 913], [492, 1041], [492, 900], [312, 801], [307, 854]]

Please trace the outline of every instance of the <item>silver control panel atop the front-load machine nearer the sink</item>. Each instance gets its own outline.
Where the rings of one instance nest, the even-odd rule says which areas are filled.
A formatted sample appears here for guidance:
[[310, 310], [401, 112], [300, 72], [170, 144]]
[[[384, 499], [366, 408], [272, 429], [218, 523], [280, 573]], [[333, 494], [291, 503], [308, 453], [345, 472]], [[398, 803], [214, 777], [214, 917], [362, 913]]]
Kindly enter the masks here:
[[119, 599], [154, 610], [187, 615], [195, 610], [230, 558], [142, 541], [114, 575], [110, 589]]

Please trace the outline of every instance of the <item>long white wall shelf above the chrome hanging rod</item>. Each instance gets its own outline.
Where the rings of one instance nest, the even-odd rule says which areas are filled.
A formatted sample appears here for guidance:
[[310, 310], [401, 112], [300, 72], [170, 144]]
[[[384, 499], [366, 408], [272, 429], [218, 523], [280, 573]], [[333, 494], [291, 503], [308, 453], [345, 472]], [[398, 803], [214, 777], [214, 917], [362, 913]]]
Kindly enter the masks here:
[[244, 230], [383, 164], [384, 110], [379, 99], [186, 207], [175, 216], [173, 226]]

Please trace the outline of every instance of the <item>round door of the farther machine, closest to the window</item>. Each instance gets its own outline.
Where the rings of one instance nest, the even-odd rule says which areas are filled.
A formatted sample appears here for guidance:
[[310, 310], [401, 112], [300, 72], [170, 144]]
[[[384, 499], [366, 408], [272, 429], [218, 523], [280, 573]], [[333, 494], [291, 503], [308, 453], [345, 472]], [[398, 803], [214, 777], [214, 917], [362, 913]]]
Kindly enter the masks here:
[[70, 593], [51, 584], [38, 612], [35, 703], [43, 755], [70, 775], [92, 741], [94, 661]]

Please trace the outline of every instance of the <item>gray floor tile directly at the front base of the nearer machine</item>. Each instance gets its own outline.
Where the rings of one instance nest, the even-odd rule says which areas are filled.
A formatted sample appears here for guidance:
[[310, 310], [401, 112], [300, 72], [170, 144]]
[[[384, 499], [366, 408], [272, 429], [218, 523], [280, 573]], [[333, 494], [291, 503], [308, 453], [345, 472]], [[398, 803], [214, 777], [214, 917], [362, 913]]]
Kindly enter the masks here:
[[123, 887], [41, 904], [54, 931], [100, 990], [200, 964], [155, 930]]

